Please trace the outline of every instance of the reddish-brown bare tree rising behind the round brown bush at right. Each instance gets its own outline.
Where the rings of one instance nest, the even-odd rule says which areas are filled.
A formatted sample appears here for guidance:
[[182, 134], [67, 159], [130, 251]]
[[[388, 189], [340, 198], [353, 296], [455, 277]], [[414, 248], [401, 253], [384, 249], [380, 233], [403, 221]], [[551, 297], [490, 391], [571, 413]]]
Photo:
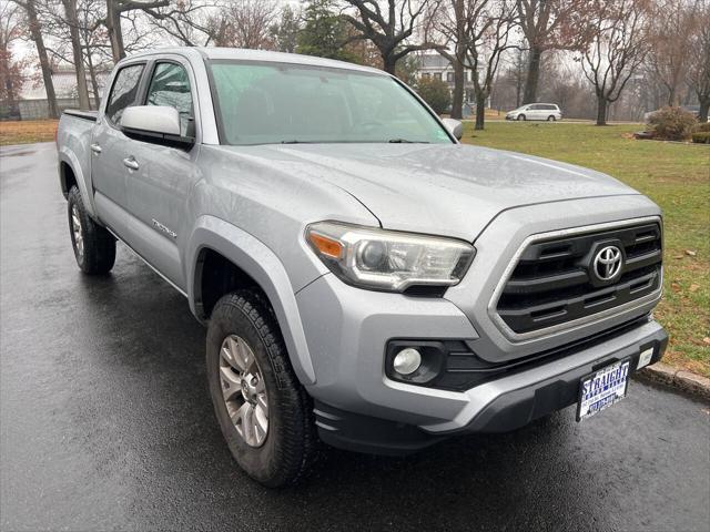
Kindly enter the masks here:
[[697, 3], [687, 0], [660, 0], [653, 9], [649, 42], [649, 65], [655, 81], [667, 92], [668, 105], [680, 103], [691, 54], [688, 53], [696, 27]]

